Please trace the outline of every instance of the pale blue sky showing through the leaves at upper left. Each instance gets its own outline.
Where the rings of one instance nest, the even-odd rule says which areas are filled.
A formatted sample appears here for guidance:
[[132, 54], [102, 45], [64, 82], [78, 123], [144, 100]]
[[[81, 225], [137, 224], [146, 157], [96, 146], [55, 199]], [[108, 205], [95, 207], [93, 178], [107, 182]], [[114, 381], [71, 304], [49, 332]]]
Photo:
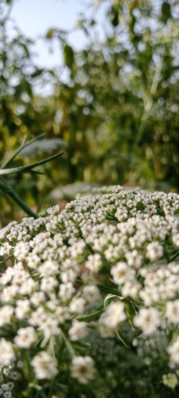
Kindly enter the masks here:
[[[78, 21], [80, 13], [87, 17], [92, 16], [93, 0], [15, 0], [11, 12], [11, 26], [15, 23], [22, 33], [32, 39], [37, 39], [49, 28], [73, 29]], [[97, 20], [98, 27], [94, 28], [93, 36], [103, 40], [103, 24], [105, 8], [109, 2], [105, 2], [96, 9], [93, 18]], [[68, 44], [76, 50], [84, 48], [88, 44], [88, 38], [82, 31], [76, 31], [68, 36]], [[62, 64], [62, 54], [59, 43], [54, 43], [53, 53], [49, 53], [47, 44], [41, 39], [35, 46], [34, 61], [38, 67], [54, 68]]]

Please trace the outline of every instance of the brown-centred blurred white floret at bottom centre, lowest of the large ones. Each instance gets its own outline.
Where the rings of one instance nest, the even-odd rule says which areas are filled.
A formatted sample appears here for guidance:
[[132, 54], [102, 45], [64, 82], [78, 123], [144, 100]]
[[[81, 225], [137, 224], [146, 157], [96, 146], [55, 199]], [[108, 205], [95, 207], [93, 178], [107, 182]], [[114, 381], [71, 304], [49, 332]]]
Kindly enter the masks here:
[[86, 384], [94, 378], [94, 362], [91, 357], [74, 357], [72, 359], [71, 375]]

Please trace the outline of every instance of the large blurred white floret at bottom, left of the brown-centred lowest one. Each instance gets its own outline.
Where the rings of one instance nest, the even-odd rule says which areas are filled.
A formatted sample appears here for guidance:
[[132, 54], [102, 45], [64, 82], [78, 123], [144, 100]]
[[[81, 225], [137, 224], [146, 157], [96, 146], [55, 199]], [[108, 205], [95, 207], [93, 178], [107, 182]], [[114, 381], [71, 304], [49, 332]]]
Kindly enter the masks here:
[[31, 365], [34, 368], [35, 376], [39, 379], [51, 379], [58, 373], [56, 359], [46, 351], [39, 352], [31, 361]]

